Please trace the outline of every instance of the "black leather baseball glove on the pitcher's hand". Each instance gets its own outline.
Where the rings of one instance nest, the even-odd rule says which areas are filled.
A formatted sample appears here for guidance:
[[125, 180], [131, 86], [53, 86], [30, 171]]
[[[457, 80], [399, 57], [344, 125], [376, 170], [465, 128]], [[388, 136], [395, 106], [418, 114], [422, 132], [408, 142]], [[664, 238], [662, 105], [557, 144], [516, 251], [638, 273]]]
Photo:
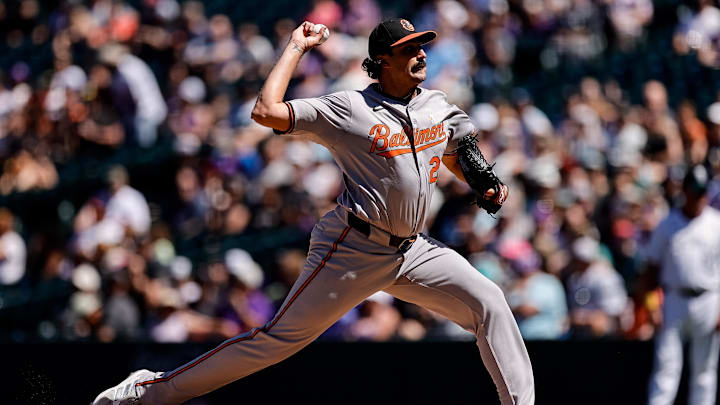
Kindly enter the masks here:
[[[473, 204], [477, 204], [489, 214], [498, 212], [507, 198], [508, 188], [493, 171], [495, 165], [488, 164], [480, 152], [477, 147], [477, 137], [466, 136], [461, 139], [457, 154], [465, 181], [475, 195]], [[489, 190], [493, 190], [494, 193]]]

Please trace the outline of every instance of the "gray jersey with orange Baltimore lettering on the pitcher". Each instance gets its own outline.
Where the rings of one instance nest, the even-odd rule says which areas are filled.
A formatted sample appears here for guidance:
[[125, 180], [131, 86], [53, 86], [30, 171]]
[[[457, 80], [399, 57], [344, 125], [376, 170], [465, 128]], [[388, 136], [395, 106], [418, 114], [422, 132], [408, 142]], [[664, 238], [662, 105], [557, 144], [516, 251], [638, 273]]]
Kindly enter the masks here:
[[376, 86], [288, 101], [292, 124], [287, 132], [330, 150], [345, 175], [340, 205], [407, 237], [424, 226], [443, 154], [454, 152], [475, 127], [443, 92], [420, 89], [405, 104]]

